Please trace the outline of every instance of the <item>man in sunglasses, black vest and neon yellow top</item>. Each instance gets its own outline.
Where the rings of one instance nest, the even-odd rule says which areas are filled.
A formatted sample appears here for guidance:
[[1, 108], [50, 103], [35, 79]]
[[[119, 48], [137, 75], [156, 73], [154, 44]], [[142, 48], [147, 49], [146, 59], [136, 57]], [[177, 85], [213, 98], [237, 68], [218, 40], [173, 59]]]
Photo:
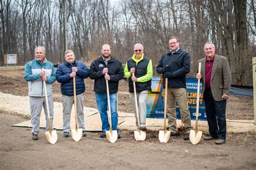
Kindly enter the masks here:
[[[142, 44], [134, 45], [134, 54], [128, 59], [124, 69], [124, 77], [129, 79], [130, 100], [136, 117], [138, 130], [138, 119], [136, 115], [136, 105], [134, 100], [133, 81], [136, 82], [136, 92], [138, 97], [138, 112], [140, 118], [140, 130], [146, 131], [146, 99], [147, 93], [151, 90], [151, 79], [153, 75], [152, 61], [144, 56]], [[134, 73], [134, 76], [132, 76]]]

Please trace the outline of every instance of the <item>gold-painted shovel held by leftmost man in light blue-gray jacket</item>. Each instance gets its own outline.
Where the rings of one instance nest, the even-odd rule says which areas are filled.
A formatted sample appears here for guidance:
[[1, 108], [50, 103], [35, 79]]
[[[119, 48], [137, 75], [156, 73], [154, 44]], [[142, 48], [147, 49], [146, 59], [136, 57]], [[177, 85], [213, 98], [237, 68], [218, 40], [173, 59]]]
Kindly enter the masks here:
[[[44, 68], [42, 68], [42, 71], [44, 71]], [[58, 139], [58, 136], [57, 136], [56, 130], [51, 130], [51, 119], [50, 119], [50, 109], [49, 109], [49, 103], [48, 103], [47, 89], [46, 89], [45, 81], [43, 82], [44, 82], [44, 94], [45, 94], [45, 102], [46, 102], [48, 122], [49, 122], [49, 131], [45, 132], [45, 137], [50, 144], [55, 144]]]

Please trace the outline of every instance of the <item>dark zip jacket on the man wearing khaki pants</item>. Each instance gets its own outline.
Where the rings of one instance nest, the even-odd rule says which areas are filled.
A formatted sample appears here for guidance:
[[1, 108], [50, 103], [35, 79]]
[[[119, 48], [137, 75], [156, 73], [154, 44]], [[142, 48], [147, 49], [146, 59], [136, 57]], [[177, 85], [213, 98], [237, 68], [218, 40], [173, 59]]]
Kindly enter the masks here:
[[[157, 73], [163, 74], [163, 67], [170, 66], [172, 78], [168, 78], [168, 87], [186, 88], [186, 74], [190, 72], [190, 54], [179, 49], [172, 54], [171, 51], [165, 53], [157, 66]], [[165, 80], [164, 88], [165, 88]]]

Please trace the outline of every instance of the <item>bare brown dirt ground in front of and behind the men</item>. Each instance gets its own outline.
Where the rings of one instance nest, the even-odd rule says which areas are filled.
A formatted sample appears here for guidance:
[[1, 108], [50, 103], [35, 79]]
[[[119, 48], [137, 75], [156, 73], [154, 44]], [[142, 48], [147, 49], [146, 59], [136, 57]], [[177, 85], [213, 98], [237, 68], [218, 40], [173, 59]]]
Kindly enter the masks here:
[[[96, 108], [93, 81], [86, 79], [85, 83], [84, 104]], [[0, 69], [0, 87], [2, 93], [27, 96], [24, 69]], [[53, 84], [53, 98], [61, 102], [58, 82]], [[125, 80], [120, 81], [118, 107], [132, 112]], [[253, 119], [253, 98], [231, 96], [227, 118]], [[161, 144], [157, 131], [147, 131], [145, 141], [136, 141], [127, 130], [120, 131], [122, 138], [114, 144], [93, 132], [75, 142], [58, 131], [58, 141], [51, 145], [45, 140], [44, 130], [39, 140], [33, 141], [31, 129], [11, 127], [26, 120], [0, 110], [0, 169], [256, 169], [255, 131], [228, 133], [224, 145], [204, 140], [192, 145], [182, 136]]]

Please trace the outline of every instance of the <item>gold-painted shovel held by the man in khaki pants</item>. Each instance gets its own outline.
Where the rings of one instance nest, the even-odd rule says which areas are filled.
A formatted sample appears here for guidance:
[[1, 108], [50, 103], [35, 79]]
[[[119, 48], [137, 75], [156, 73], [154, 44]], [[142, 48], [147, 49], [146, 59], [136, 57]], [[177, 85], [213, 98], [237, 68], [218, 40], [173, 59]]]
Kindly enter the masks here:
[[170, 139], [171, 131], [166, 130], [166, 107], [167, 107], [167, 89], [168, 89], [168, 78], [165, 78], [165, 91], [164, 91], [164, 130], [159, 130], [159, 141], [161, 143], [167, 143]]

